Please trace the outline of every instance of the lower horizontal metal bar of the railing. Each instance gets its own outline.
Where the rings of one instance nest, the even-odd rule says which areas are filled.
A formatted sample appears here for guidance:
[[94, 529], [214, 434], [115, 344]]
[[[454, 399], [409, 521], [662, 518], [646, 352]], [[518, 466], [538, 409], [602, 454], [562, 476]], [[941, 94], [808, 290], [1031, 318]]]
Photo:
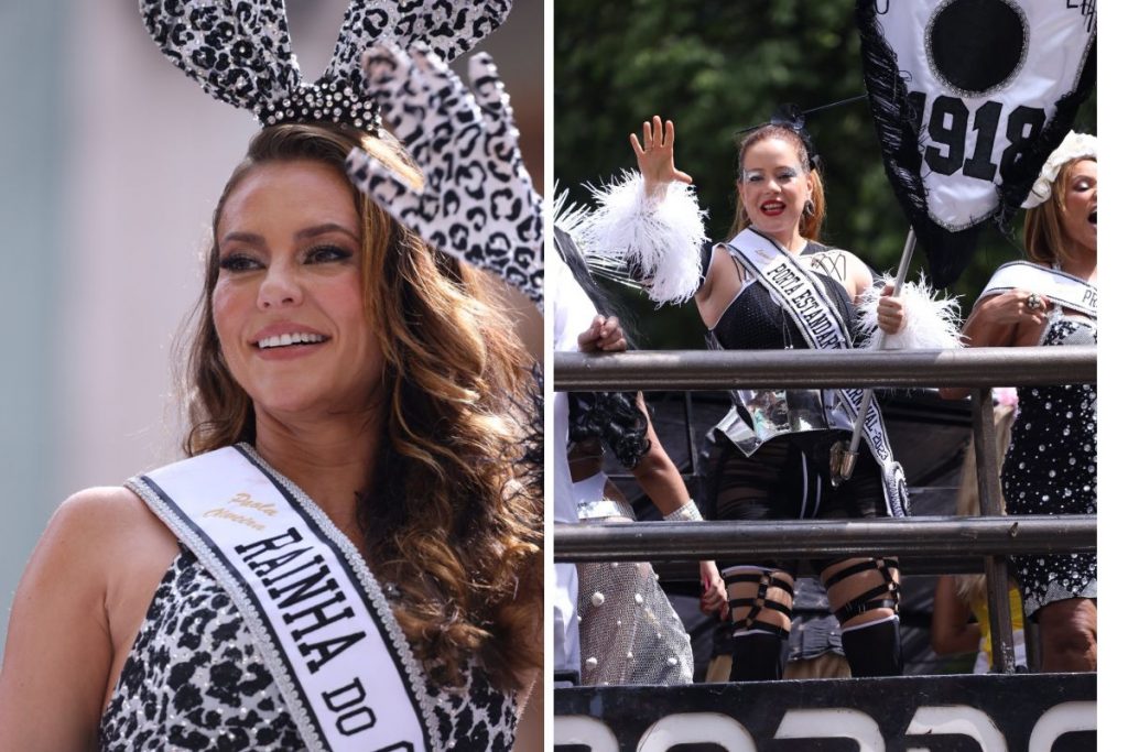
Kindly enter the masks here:
[[1073, 554], [1096, 550], [1096, 515], [557, 523], [554, 540], [557, 561]]

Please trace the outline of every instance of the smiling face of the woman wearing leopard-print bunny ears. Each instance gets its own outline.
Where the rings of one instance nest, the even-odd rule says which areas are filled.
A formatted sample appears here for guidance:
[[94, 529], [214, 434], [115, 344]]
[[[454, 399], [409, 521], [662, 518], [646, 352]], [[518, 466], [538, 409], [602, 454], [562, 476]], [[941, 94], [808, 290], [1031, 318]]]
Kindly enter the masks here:
[[331, 166], [275, 161], [231, 191], [217, 224], [212, 315], [223, 360], [256, 410], [362, 410], [382, 357], [364, 315], [353, 194]]

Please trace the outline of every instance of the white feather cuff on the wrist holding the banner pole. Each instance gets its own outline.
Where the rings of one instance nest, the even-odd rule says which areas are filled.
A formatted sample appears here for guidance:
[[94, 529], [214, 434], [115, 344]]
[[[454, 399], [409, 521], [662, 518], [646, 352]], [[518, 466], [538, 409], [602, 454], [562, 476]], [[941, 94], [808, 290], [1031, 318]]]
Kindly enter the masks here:
[[[861, 347], [873, 348], [878, 334], [878, 301], [885, 285], [896, 282], [890, 275], [883, 276], [862, 293], [857, 306], [860, 328], [864, 337]], [[962, 347], [960, 315], [955, 298], [934, 293], [920, 274], [919, 282], [901, 285], [899, 298], [905, 301], [905, 327], [897, 334], [887, 334], [884, 350], [951, 350]]]

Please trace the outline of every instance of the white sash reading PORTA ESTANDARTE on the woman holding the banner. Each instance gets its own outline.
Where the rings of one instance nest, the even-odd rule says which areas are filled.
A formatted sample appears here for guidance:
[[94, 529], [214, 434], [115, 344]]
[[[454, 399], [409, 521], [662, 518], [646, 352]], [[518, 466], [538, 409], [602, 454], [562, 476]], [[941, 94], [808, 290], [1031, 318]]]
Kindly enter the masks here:
[[[827, 298], [822, 285], [791, 254], [751, 228], [743, 230], [724, 244], [735, 250], [740, 258], [757, 274], [772, 299], [796, 324], [807, 344], [812, 350], [849, 350], [853, 345], [849, 328], [843, 321], [837, 307]], [[836, 424], [853, 425], [862, 408], [864, 389], [834, 389], [832, 413]], [[885, 423], [876, 401], [870, 402], [870, 410], [863, 424], [862, 435], [874, 459], [881, 466], [885, 492], [885, 506], [890, 516], [908, 516], [908, 492], [905, 472], [900, 462], [893, 459], [889, 446]]]

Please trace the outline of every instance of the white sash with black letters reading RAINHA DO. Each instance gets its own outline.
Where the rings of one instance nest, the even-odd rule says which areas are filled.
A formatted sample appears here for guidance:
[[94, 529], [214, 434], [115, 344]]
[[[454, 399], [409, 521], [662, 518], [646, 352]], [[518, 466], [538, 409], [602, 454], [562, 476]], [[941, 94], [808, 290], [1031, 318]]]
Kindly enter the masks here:
[[228, 591], [310, 750], [423, 752], [423, 673], [356, 548], [246, 445], [131, 478]]

